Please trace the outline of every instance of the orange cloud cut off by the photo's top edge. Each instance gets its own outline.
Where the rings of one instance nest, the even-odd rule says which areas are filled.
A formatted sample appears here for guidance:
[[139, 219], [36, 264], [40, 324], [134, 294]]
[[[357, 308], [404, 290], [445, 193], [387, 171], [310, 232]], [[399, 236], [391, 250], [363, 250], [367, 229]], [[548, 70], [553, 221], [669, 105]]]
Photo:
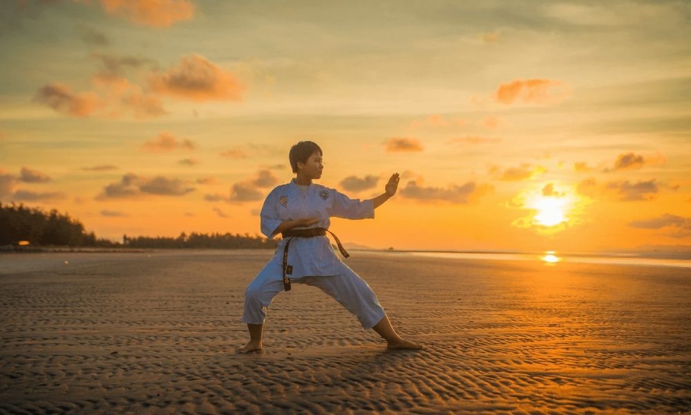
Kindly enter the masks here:
[[[73, 1], [91, 3], [91, 0]], [[189, 0], [100, 0], [100, 3], [111, 15], [155, 28], [167, 28], [194, 15], [194, 3]]]

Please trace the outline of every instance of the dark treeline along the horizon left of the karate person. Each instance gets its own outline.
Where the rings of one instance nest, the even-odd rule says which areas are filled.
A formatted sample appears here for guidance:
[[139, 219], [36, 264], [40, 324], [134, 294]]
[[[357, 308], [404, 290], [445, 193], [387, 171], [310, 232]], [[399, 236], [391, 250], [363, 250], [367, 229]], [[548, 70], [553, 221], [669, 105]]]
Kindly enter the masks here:
[[173, 237], [128, 237], [122, 243], [97, 238], [85, 232], [84, 225], [68, 214], [53, 209], [28, 208], [23, 204], [0, 203], [0, 246], [17, 246], [28, 241], [30, 246], [93, 246], [126, 248], [276, 248], [278, 241], [249, 234], [200, 234], [182, 232]]

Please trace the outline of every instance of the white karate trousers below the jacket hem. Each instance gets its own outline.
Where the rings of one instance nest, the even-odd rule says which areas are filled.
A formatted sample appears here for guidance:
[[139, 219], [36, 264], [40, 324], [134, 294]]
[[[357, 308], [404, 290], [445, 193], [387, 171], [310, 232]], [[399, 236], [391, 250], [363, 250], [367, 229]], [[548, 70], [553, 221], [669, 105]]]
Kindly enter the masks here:
[[[243, 323], [264, 323], [269, 305], [283, 291], [281, 266], [272, 259], [249, 283], [245, 290]], [[318, 287], [353, 313], [364, 329], [371, 329], [384, 318], [384, 308], [379, 305], [372, 288], [345, 264], [339, 275], [291, 278], [290, 282]]]

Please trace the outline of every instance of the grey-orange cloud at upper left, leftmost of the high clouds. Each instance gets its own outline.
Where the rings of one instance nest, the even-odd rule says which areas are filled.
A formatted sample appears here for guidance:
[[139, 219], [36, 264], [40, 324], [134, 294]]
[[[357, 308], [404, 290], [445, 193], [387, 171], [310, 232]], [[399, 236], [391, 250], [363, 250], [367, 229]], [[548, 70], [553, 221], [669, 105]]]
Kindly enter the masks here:
[[91, 116], [103, 107], [102, 100], [95, 93], [75, 93], [69, 86], [57, 82], [39, 89], [34, 101], [46, 104], [59, 113], [82, 118]]

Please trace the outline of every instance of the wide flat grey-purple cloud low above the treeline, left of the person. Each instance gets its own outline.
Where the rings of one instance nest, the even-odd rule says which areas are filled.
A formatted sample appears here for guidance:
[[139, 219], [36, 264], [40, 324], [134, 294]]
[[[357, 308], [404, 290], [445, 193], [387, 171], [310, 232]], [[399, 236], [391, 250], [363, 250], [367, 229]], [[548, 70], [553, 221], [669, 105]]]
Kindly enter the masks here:
[[120, 182], [106, 185], [103, 192], [96, 196], [96, 199], [126, 199], [146, 194], [182, 196], [194, 190], [194, 187], [186, 187], [178, 178], [167, 178], [164, 176], [145, 178], [128, 173], [122, 176]]

